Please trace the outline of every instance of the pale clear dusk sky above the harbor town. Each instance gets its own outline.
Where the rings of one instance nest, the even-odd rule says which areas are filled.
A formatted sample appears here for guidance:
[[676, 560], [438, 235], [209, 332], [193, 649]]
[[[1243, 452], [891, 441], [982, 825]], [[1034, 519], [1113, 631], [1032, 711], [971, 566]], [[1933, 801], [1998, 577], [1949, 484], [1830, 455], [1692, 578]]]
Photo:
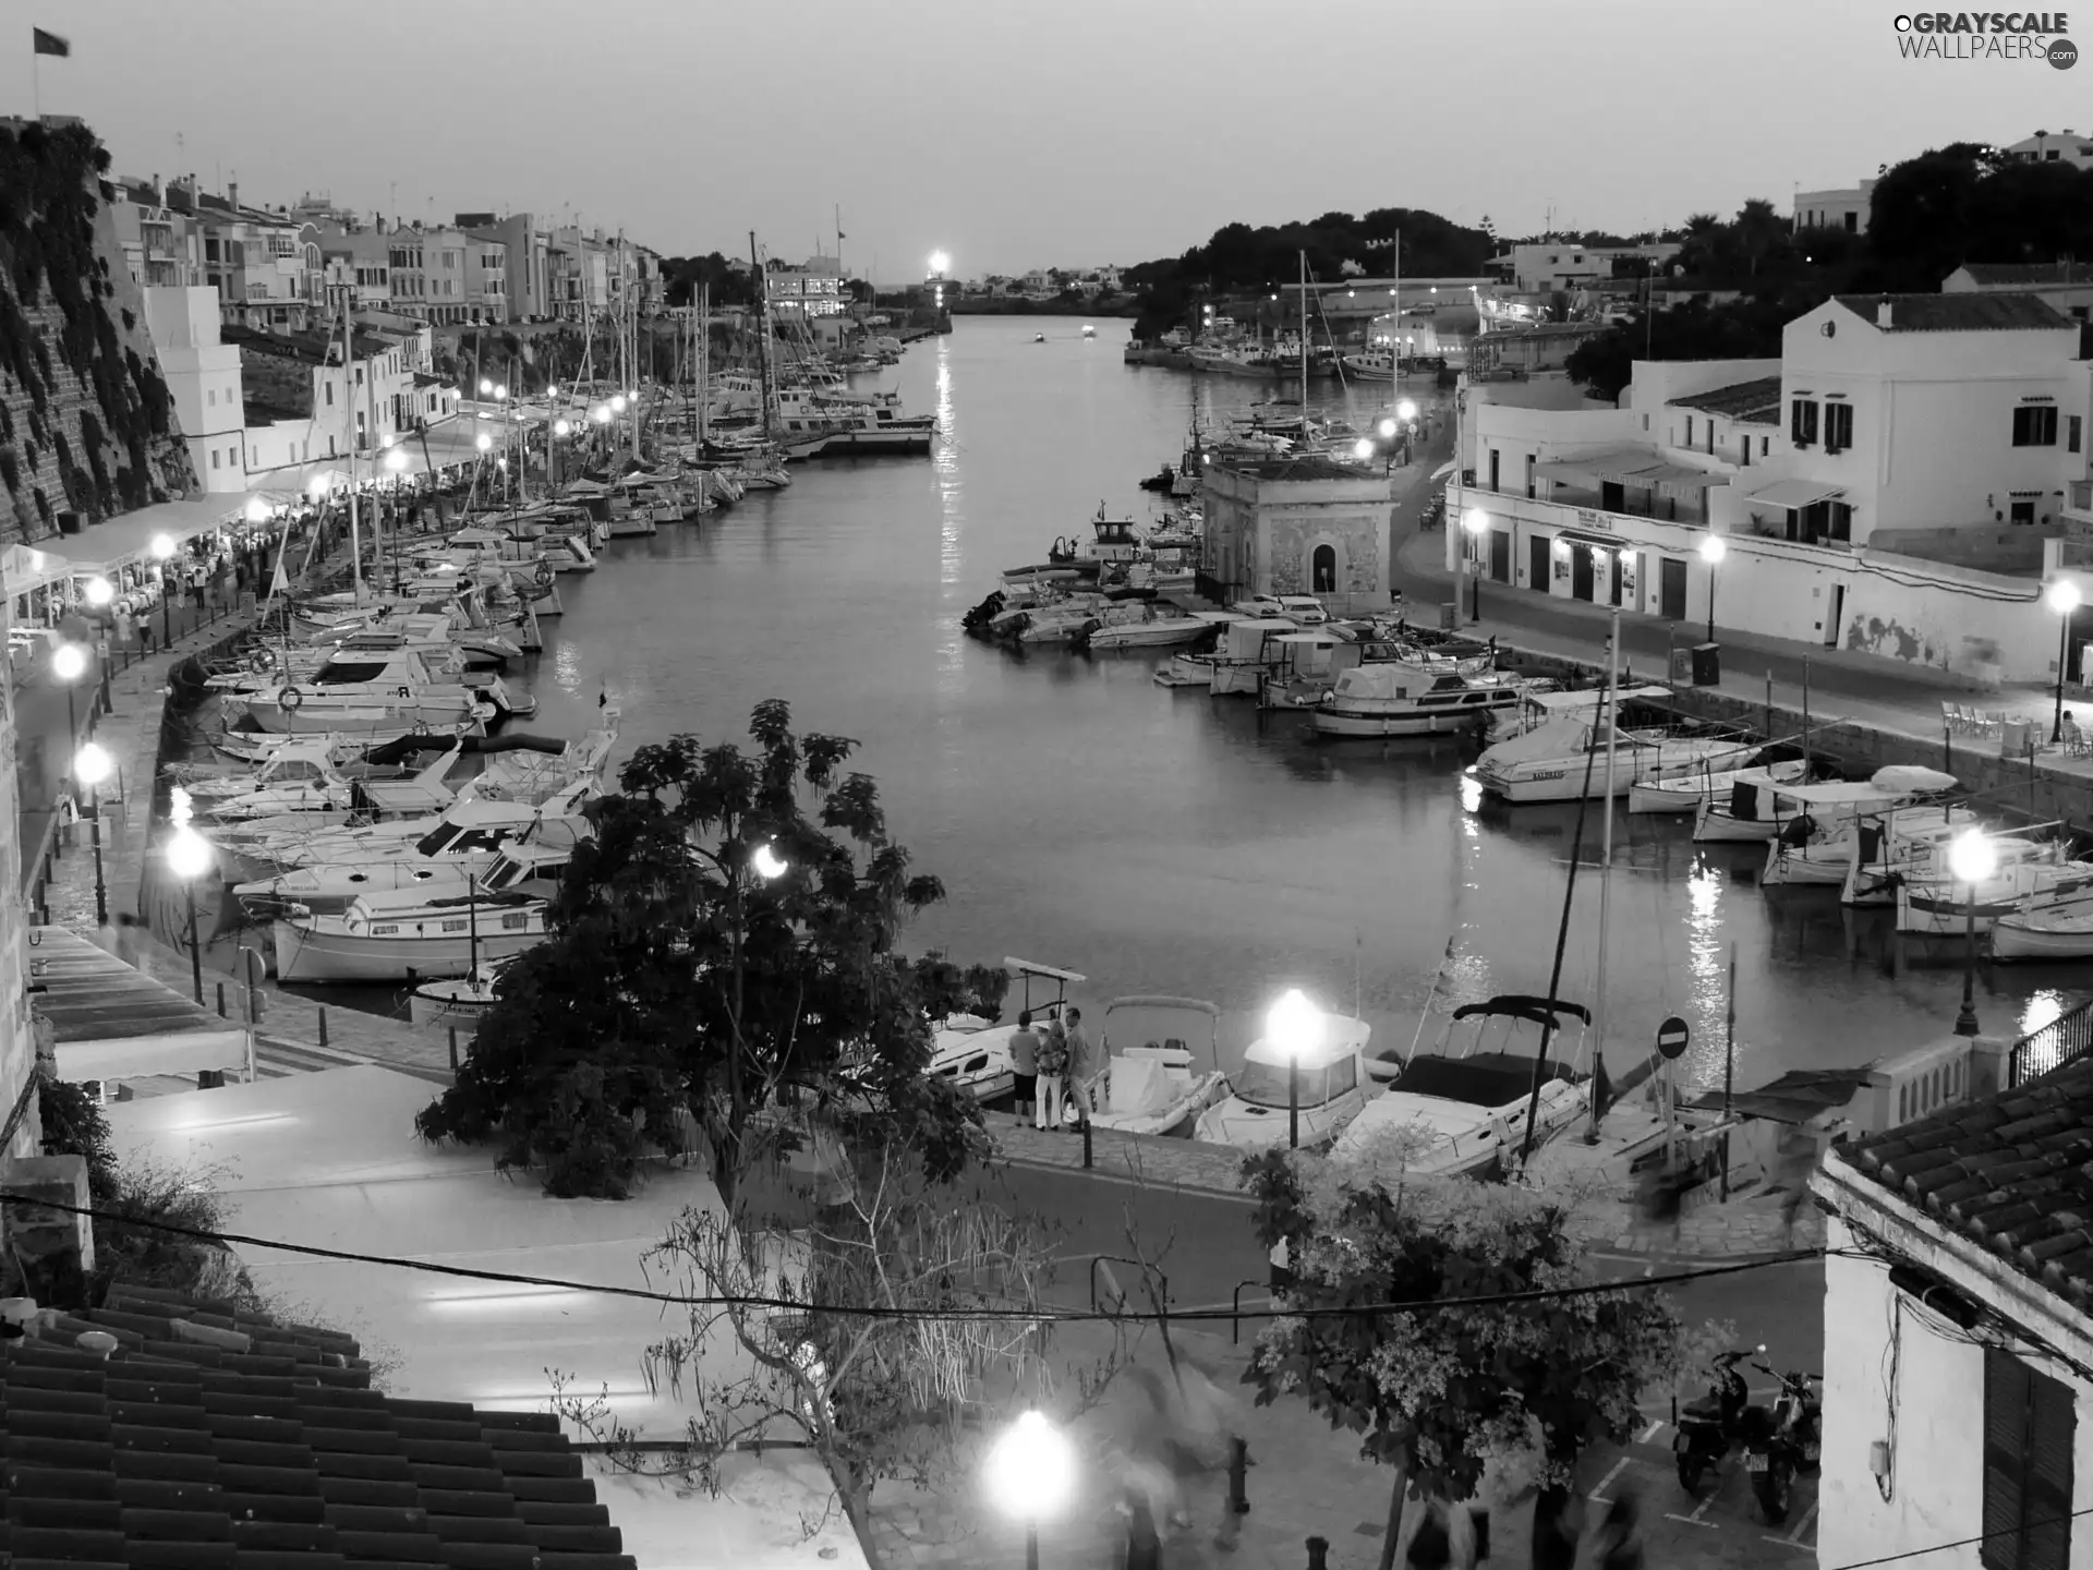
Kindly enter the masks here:
[[[1907, 0], [1909, 4], [1909, 0]], [[119, 174], [536, 211], [879, 283], [1176, 255], [1224, 222], [1501, 234], [1790, 209], [1953, 140], [2093, 130], [2093, 63], [1909, 61], [1892, 0], [23, 0], [0, 98]], [[2076, 21], [2076, 17], [2072, 17]], [[352, 31], [354, 27], [354, 31]], [[2093, 44], [2093, 4], [2080, 48]], [[180, 138], [180, 142], [178, 142]]]

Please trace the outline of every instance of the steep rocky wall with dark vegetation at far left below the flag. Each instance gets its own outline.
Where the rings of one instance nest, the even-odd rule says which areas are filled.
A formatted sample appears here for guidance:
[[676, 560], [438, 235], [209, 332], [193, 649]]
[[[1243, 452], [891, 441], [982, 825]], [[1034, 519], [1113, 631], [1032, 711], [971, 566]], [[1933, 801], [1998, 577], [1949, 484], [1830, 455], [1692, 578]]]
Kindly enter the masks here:
[[0, 128], [0, 542], [197, 488], [84, 126]]

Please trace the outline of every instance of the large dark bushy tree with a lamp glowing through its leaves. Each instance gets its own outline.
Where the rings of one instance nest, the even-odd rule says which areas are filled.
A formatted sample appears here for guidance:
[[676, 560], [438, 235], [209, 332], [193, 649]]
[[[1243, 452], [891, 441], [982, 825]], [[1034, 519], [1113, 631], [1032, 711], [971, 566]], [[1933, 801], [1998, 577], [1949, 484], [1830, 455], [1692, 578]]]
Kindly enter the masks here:
[[[894, 944], [944, 898], [887, 839], [856, 743], [756, 705], [753, 752], [672, 737], [590, 806], [548, 911], [553, 936], [502, 969], [427, 1139], [498, 1143], [559, 1195], [624, 1197], [649, 1151], [703, 1135], [720, 1197], [791, 1149], [812, 1116], [871, 1116], [948, 1176], [980, 1109], [931, 1078], [925, 988]], [[774, 873], [774, 875], [766, 875]]]

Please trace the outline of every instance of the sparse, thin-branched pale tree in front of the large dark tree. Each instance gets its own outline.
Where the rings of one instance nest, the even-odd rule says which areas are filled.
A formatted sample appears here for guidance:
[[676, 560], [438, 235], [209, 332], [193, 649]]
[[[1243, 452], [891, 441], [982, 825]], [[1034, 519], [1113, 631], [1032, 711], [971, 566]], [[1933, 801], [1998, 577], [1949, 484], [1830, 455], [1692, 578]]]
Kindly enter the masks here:
[[[569, 1394], [557, 1375], [555, 1405], [617, 1465], [714, 1490], [733, 1449], [797, 1438], [881, 1570], [877, 1484], [967, 1486], [977, 1434], [1026, 1407], [1072, 1419], [1103, 1392], [1118, 1352], [1057, 1380], [1044, 1306], [1055, 1239], [925, 1183], [900, 1139], [848, 1149], [858, 1156], [837, 1158], [848, 1168], [839, 1202], [758, 1220], [689, 1210], [649, 1252], [649, 1277], [707, 1298], [640, 1354], [649, 1388], [668, 1386], [697, 1413], [680, 1446], [640, 1451], [607, 1398]], [[724, 1340], [743, 1356], [724, 1354]]]

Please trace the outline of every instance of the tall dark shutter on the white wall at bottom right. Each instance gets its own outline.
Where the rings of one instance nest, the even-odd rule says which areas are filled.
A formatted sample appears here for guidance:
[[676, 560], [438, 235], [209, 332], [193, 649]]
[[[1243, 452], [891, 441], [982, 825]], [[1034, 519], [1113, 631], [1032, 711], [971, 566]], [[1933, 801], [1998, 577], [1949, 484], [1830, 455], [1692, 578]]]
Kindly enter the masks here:
[[1984, 1350], [1984, 1570], [2066, 1570], [2076, 1426], [2068, 1384]]

